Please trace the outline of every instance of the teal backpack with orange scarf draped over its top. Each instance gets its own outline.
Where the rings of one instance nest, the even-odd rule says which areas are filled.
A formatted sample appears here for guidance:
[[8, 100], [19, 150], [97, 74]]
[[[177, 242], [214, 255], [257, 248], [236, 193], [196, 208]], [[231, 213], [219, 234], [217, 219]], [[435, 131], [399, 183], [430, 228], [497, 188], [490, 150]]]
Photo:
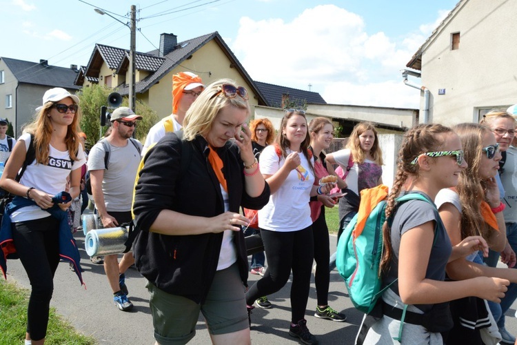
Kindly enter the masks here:
[[[397, 280], [381, 289], [380, 264], [387, 190], [387, 186], [380, 185], [361, 191], [359, 212], [343, 230], [336, 250], [336, 268], [345, 280], [350, 300], [356, 309], [366, 314], [374, 309], [384, 290]], [[415, 199], [432, 204], [423, 195], [409, 193], [396, 198], [397, 207]], [[434, 234], [436, 240], [436, 227]]]

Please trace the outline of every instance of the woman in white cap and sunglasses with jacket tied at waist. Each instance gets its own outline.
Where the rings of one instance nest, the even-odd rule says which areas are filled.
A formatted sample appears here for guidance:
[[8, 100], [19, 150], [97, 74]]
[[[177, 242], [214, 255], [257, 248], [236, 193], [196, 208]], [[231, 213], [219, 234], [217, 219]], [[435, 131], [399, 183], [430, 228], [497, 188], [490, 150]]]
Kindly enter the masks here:
[[[32, 341], [32, 345], [45, 342], [60, 253], [72, 250], [79, 258], [66, 211], [72, 199], [79, 196], [81, 166], [86, 161], [79, 139], [81, 114], [78, 103], [79, 97], [70, 95], [63, 88], [47, 90], [43, 95], [43, 106], [34, 121], [23, 130], [0, 179], [0, 187], [15, 195], [10, 204], [13, 208], [9, 211], [12, 226], [8, 224], [8, 228], [12, 230], [14, 246], [32, 287], [26, 333], [26, 343]], [[35, 159], [18, 181], [17, 173], [28, 152], [34, 152], [32, 150]], [[68, 175], [70, 198], [65, 203], [54, 203], [52, 198], [65, 190]], [[6, 217], [4, 215], [2, 220], [4, 225], [8, 223]], [[5, 230], [2, 226], [1, 232]], [[79, 262], [74, 264], [81, 278]]]

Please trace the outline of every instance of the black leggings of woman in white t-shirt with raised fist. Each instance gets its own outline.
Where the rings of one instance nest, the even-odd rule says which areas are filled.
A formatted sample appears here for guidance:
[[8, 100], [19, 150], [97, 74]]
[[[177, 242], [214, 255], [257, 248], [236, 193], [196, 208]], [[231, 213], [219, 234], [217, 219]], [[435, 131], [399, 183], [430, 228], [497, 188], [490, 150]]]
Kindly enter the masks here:
[[246, 303], [280, 290], [287, 283], [292, 270], [291, 322], [296, 324], [305, 318], [309, 299], [314, 242], [312, 226], [298, 231], [282, 233], [261, 228], [267, 270], [265, 275], [246, 293]]

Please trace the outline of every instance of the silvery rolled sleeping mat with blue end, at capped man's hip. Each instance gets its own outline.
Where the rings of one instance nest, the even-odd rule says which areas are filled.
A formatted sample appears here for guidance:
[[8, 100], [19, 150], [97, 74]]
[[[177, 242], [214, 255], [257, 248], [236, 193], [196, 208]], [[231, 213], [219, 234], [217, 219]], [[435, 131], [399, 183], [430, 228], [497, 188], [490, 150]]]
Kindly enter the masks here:
[[127, 240], [127, 228], [94, 229], [86, 234], [84, 246], [90, 257], [121, 254], [126, 248]]

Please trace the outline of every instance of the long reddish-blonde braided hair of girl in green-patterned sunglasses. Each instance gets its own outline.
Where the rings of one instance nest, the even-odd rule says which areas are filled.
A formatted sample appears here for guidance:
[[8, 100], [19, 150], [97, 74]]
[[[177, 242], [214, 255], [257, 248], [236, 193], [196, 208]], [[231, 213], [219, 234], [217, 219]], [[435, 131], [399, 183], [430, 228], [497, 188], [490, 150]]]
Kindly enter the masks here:
[[386, 221], [383, 224], [384, 252], [381, 259], [383, 272], [387, 272], [393, 255], [391, 229], [387, 220], [392, 217], [395, 210], [395, 198], [409, 176], [418, 178], [418, 164], [412, 164], [412, 161], [422, 153], [439, 148], [443, 144], [440, 135], [450, 132], [451, 128], [440, 124], [420, 124], [405, 133], [401, 149], [398, 151], [395, 181], [386, 204]]

